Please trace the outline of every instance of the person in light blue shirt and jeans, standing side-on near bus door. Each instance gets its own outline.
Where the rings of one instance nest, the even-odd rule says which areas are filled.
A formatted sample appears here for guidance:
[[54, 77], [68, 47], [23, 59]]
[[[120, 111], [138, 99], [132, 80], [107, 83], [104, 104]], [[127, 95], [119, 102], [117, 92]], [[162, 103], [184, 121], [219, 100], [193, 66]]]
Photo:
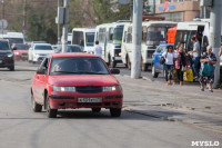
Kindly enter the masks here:
[[200, 42], [198, 41], [196, 37], [191, 38], [191, 42], [193, 42], [193, 50], [189, 51], [190, 55], [193, 56], [193, 66], [192, 71], [194, 79], [199, 78], [199, 69], [200, 69], [200, 57], [201, 57], [201, 48], [200, 48]]

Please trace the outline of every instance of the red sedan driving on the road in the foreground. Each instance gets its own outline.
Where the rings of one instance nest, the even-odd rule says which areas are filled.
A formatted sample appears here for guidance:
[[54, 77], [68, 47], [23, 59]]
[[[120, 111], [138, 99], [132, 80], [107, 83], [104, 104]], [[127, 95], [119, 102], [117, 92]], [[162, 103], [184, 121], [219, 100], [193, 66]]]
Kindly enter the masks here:
[[91, 108], [99, 112], [105, 108], [112, 117], [120, 117], [123, 95], [114, 73], [120, 70], [109, 70], [94, 55], [50, 55], [32, 79], [32, 109], [40, 112], [43, 106], [48, 117], [56, 118], [58, 109]]

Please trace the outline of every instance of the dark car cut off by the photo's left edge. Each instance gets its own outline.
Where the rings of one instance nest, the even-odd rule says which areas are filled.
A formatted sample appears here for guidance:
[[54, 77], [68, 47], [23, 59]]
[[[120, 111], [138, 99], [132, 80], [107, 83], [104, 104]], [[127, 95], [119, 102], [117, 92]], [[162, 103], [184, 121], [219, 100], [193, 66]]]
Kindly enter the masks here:
[[0, 39], [0, 68], [9, 68], [14, 71], [14, 55], [8, 40]]

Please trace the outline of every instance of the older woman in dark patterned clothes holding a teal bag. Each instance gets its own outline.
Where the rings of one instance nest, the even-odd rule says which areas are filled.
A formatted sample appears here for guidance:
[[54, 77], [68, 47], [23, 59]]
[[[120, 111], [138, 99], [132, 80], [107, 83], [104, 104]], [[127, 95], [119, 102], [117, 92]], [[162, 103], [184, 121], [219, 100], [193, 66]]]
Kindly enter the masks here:
[[209, 90], [213, 92], [212, 85], [214, 82], [214, 66], [216, 63], [216, 57], [212, 52], [212, 47], [206, 47], [206, 53], [201, 57], [201, 77], [200, 77], [200, 83], [201, 83], [201, 90], [204, 91], [204, 86], [209, 83]]

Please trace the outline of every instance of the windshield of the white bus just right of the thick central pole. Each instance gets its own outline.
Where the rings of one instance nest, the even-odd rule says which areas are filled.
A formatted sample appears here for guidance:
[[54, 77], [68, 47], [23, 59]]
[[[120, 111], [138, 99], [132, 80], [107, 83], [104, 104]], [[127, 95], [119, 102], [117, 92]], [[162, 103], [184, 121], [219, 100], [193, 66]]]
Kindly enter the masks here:
[[147, 45], [159, 46], [165, 43], [167, 27], [148, 27]]

